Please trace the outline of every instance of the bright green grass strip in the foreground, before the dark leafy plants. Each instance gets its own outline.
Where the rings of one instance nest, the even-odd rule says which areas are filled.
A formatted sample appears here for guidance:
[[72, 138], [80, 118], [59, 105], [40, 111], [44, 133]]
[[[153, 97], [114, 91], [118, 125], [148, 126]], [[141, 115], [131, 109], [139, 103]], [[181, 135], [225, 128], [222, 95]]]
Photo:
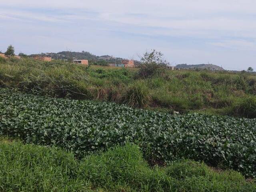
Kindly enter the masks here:
[[0, 138], [2, 192], [253, 192], [254, 181], [183, 160], [151, 167], [136, 145], [116, 146], [76, 160], [55, 147]]

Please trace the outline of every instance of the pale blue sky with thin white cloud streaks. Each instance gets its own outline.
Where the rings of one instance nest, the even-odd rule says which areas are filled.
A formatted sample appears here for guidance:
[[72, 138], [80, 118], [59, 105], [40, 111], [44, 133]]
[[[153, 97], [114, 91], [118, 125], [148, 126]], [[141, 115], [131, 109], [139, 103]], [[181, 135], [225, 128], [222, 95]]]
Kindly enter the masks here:
[[0, 0], [0, 51], [89, 51], [256, 69], [256, 0]]

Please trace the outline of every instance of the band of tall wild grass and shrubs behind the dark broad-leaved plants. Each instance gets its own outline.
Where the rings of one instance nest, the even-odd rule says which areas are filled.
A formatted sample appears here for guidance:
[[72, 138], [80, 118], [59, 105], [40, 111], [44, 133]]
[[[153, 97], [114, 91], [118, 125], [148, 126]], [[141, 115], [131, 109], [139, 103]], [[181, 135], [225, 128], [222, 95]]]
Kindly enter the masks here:
[[139, 108], [256, 117], [256, 76], [168, 71], [142, 79], [137, 69], [0, 58], [0, 86]]

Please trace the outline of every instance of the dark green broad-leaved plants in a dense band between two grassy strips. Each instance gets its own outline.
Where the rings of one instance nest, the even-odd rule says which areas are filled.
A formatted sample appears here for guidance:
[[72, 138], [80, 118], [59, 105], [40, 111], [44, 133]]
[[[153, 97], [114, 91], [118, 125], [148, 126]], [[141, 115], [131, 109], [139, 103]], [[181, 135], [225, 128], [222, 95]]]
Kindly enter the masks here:
[[189, 158], [256, 177], [255, 119], [171, 115], [7, 89], [0, 89], [0, 114], [1, 135], [57, 145], [80, 157], [134, 142], [152, 164]]

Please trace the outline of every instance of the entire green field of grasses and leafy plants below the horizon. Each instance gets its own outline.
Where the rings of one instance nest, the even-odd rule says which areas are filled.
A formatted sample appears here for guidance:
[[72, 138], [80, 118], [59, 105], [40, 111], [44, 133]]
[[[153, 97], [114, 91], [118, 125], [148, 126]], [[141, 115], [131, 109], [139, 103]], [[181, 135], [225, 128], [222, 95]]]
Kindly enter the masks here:
[[256, 76], [139, 70], [0, 58], [0, 191], [256, 191]]

